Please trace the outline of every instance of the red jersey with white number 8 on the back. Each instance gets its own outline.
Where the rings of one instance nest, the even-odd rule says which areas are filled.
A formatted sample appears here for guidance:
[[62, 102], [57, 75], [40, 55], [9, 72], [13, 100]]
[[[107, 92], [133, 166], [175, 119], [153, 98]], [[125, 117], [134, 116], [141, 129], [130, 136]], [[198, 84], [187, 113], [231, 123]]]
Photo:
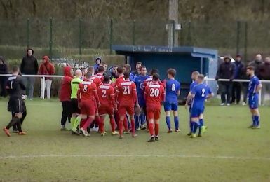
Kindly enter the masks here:
[[97, 102], [99, 102], [97, 97], [97, 86], [91, 80], [85, 80], [81, 82], [79, 85], [77, 97], [79, 102], [81, 102], [81, 100], [94, 102], [95, 99]]

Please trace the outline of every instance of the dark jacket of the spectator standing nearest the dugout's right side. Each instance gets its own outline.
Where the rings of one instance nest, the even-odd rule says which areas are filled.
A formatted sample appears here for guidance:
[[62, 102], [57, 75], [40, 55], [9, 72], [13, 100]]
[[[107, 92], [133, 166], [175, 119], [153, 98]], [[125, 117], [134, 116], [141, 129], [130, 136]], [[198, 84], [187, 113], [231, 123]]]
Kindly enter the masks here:
[[217, 69], [215, 79], [229, 79], [234, 80], [235, 66], [231, 62], [222, 62]]

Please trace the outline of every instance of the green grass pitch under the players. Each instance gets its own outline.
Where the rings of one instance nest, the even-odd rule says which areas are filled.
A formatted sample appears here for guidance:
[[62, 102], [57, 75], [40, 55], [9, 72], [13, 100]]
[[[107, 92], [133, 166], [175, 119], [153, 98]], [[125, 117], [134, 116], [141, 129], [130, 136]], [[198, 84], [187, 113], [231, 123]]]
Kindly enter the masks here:
[[[0, 109], [4, 127], [10, 119], [6, 100]], [[163, 114], [161, 140], [153, 144], [144, 131], [135, 139], [60, 132], [55, 100], [27, 102], [27, 111], [26, 136], [0, 133], [0, 181], [270, 181], [267, 106], [260, 108], [261, 130], [248, 129], [247, 106], [207, 106], [208, 132], [195, 139], [186, 136], [188, 113], [180, 106], [182, 132], [167, 134]]]

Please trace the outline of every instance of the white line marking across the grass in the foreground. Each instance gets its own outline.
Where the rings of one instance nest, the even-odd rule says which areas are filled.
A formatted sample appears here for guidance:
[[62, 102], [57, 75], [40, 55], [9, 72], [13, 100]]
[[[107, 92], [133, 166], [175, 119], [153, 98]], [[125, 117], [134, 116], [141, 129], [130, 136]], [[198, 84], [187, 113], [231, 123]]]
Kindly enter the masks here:
[[238, 159], [238, 160], [270, 160], [267, 157], [237, 157], [237, 156], [204, 156], [204, 155], [8, 155], [0, 159], [9, 158], [210, 158], [210, 159]]

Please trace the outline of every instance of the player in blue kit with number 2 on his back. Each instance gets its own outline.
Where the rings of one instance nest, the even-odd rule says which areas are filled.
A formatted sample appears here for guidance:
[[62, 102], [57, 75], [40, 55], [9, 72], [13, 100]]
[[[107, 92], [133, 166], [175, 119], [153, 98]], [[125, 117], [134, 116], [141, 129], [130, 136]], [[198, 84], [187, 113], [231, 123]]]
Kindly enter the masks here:
[[[213, 97], [212, 91], [208, 85], [203, 83], [204, 75], [198, 75], [197, 85], [191, 91], [191, 97], [193, 98], [193, 102], [191, 104], [191, 128], [192, 132], [190, 137], [196, 137], [196, 130], [198, 127], [203, 126], [199, 123], [200, 118], [202, 118], [204, 111], [205, 99], [210, 99]], [[202, 131], [203, 132], [203, 131]], [[198, 136], [201, 137], [201, 136]]]

